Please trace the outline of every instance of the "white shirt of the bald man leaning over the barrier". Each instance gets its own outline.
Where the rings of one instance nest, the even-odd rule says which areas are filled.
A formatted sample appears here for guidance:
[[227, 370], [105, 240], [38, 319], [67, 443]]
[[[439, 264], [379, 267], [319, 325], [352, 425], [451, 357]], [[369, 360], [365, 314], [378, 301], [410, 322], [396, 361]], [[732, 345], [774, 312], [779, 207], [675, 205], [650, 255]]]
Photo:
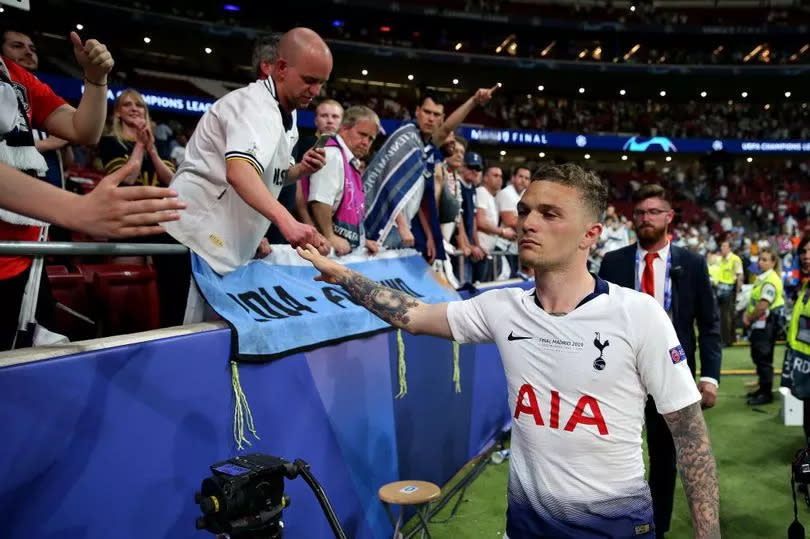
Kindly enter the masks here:
[[226, 161], [249, 163], [278, 196], [294, 164], [298, 141], [295, 111], [279, 107], [272, 79], [234, 90], [200, 119], [172, 188], [188, 205], [179, 221], [164, 228], [219, 274], [250, 261], [270, 221], [228, 184]]

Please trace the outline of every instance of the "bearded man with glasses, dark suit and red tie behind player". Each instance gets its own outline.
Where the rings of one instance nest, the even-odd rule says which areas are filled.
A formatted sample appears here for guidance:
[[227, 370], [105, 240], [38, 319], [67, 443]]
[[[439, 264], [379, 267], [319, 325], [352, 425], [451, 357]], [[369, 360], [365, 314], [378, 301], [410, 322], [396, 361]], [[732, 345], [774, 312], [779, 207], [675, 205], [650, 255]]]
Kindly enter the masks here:
[[[712, 293], [706, 261], [669, 241], [667, 228], [675, 212], [660, 185], [645, 185], [634, 196], [633, 221], [638, 243], [605, 255], [599, 276], [653, 296], [666, 310], [695, 375], [695, 323], [700, 345], [700, 381], [703, 408], [717, 399], [722, 345], [720, 315]], [[650, 456], [650, 491], [656, 537], [664, 537], [672, 518], [675, 490], [675, 446], [664, 418], [652, 397], [645, 409]]]

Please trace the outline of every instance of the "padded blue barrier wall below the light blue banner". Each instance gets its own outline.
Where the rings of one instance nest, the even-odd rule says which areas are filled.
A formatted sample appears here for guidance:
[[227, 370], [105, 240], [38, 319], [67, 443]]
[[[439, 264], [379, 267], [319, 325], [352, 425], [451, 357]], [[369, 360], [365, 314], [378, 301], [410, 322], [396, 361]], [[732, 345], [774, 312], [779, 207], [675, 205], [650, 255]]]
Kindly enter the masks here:
[[[396, 333], [240, 365], [259, 440], [302, 458], [349, 537], [386, 537], [377, 489], [444, 484], [509, 425], [493, 345], [404, 335], [408, 393], [395, 399]], [[8, 539], [201, 538], [193, 495], [235, 454], [230, 330], [0, 369], [0, 530]], [[302, 479], [288, 481], [285, 537], [331, 537]]]

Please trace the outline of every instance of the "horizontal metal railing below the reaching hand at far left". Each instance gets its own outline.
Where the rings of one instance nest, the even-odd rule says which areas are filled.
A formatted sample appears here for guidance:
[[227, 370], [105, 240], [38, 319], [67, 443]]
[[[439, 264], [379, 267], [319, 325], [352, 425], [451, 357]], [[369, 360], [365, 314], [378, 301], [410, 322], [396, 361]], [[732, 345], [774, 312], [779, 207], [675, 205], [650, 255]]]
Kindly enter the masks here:
[[183, 255], [188, 247], [163, 243], [0, 241], [1, 256]]

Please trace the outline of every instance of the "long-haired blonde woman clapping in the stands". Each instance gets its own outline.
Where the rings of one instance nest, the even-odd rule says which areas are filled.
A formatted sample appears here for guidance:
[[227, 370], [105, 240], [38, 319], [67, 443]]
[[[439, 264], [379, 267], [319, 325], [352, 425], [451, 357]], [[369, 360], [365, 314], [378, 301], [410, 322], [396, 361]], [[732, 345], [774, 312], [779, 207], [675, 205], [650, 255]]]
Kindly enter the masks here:
[[143, 147], [141, 168], [124, 184], [169, 185], [175, 172], [174, 163], [158, 154], [149, 108], [143, 96], [130, 88], [115, 100], [112, 126], [98, 143], [104, 173], [110, 174], [124, 166], [136, 145]]

